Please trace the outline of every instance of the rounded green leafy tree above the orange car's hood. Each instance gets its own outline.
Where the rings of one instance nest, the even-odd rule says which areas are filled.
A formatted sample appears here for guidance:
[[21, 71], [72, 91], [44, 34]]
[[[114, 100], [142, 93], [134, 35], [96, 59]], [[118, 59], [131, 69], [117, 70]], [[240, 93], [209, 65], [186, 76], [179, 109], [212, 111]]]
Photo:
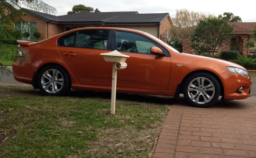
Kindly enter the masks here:
[[214, 51], [233, 36], [233, 26], [227, 20], [207, 18], [201, 20], [192, 35], [192, 48], [196, 54], [207, 53], [214, 56]]

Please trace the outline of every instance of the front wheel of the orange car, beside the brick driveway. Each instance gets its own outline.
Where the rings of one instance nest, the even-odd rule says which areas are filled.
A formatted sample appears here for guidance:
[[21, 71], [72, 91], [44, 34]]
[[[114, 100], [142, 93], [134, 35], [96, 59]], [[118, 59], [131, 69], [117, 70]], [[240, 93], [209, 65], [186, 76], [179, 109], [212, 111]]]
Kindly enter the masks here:
[[192, 106], [208, 107], [219, 99], [219, 82], [209, 73], [192, 74], [184, 81], [183, 95]]

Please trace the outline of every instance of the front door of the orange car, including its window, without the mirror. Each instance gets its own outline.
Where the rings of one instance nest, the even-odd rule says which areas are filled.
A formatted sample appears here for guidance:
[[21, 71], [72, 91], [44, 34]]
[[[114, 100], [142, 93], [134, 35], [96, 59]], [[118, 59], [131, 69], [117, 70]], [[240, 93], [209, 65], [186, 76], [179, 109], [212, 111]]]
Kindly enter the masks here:
[[[127, 68], [118, 71], [119, 88], [167, 90], [171, 70], [171, 58], [155, 41], [144, 35], [116, 31], [117, 50], [130, 56]], [[150, 48], [158, 46], [165, 57], [150, 53]]]

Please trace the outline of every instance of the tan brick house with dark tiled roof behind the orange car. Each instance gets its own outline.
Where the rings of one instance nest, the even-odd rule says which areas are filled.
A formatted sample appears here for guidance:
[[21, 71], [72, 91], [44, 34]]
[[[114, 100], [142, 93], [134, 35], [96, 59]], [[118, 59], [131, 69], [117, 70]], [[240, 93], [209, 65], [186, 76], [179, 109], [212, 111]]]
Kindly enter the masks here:
[[36, 28], [41, 34], [39, 40], [44, 40], [75, 28], [104, 26], [141, 30], [167, 42], [172, 26], [169, 13], [139, 14], [137, 11], [88, 12], [55, 16], [24, 9], [24, 12], [16, 17], [24, 22], [13, 20], [15, 29], [22, 29], [25, 27], [25, 23], [29, 24], [30, 36], [28, 39], [30, 40], [35, 39], [33, 36], [35, 29], [31, 28]]

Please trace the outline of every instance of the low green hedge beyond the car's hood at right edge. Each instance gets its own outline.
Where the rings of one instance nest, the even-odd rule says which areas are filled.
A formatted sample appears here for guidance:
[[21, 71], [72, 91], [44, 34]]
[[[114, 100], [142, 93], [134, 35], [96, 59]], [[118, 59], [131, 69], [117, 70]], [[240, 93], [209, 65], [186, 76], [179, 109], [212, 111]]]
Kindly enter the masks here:
[[242, 65], [247, 70], [256, 70], [256, 59], [240, 57], [236, 60], [230, 60], [230, 61], [238, 63], [239, 65]]

